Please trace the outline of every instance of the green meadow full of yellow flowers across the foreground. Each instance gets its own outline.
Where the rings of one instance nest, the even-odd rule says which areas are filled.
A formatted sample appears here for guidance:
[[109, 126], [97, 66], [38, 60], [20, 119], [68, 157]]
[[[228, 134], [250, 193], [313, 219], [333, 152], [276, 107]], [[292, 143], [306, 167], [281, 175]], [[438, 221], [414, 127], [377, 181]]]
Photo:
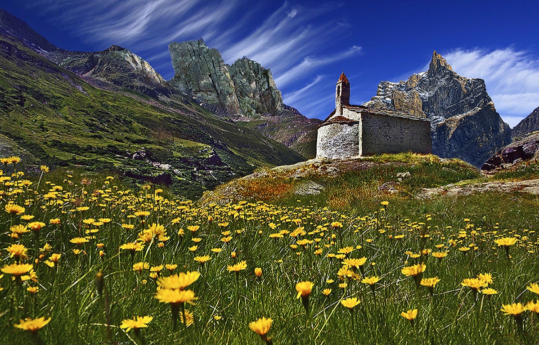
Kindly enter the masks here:
[[[4, 163], [13, 173], [0, 177], [0, 343], [527, 344], [539, 337], [534, 305], [501, 311], [537, 300], [535, 196], [393, 198], [361, 209], [320, 200], [199, 207], [155, 186], [128, 190], [104, 176], [51, 181], [45, 168], [26, 179], [17, 162]], [[503, 238], [516, 242], [495, 242]], [[133, 251], [121, 249], [129, 243]], [[32, 270], [15, 277], [8, 267], [16, 262]], [[404, 267], [414, 265], [424, 272], [406, 276]], [[175, 292], [162, 280], [185, 283], [186, 272], [197, 278]], [[369, 277], [379, 280], [369, 285]], [[419, 284], [434, 277], [432, 292]], [[467, 278], [481, 287], [462, 285]], [[297, 298], [302, 281], [313, 287]], [[160, 301], [158, 286], [197, 299]], [[487, 286], [496, 294], [483, 293]], [[347, 308], [348, 298], [360, 303]], [[188, 327], [184, 309], [194, 321]], [[402, 316], [414, 309], [413, 320]], [[151, 320], [120, 327], [135, 316]], [[262, 316], [273, 320], [267, 341], [249, 327]], [[26, 318], [44, 322], [17, 328], [29, 328]]]

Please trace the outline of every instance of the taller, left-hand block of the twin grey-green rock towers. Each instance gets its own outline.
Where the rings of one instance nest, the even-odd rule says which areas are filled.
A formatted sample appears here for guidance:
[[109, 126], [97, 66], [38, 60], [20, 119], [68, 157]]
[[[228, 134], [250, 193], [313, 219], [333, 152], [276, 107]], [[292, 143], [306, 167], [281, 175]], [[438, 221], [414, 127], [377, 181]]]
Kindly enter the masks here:
[[221, 53], [208, 48], [204, 40], [173, 42], [169, 45], [172, 68], [176, 74], [172, 86], [217, 110], [239, 114], [234, 83]]

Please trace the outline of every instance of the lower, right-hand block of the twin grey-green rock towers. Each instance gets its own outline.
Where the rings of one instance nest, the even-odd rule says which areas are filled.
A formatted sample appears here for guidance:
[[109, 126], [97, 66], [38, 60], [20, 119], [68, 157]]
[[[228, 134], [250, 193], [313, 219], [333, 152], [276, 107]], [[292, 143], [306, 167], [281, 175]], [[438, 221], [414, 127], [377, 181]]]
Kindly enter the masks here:
[[236, 89], [241, 114], [281, 114], [283, 110], [281, 91], [269, 69], [256, 61], [243, 57], [229, 66], [230, 76]]

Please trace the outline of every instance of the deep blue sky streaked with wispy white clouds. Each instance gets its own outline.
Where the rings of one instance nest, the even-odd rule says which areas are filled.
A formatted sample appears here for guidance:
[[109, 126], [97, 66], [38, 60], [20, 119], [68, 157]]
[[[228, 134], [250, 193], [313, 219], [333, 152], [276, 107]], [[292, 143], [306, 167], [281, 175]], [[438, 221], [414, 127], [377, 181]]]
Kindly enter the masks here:
[[502, 118], [516, 125], [539, 106], [539, 4], [535, 1], [3, 0], [0, 6], [60, 48], [120, 45], [163, 78], [168, 44], [204, 38], [231, 64], [271, 68], [286, 104], [307, 117], [334, 109], [344, 71], [350, 102], [428, 68], [432, 53], [485, 79]]

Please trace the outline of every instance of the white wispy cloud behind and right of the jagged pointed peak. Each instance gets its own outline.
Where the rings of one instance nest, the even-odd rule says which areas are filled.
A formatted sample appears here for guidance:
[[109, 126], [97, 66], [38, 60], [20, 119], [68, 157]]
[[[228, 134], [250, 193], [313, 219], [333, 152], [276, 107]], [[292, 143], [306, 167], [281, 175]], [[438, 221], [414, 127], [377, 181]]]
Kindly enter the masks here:
[[504, 121], [515, 126], [539, 106], [539, 59], [513, 48], [455, 50], [443, 55], [453, 71], [485, 80]]

